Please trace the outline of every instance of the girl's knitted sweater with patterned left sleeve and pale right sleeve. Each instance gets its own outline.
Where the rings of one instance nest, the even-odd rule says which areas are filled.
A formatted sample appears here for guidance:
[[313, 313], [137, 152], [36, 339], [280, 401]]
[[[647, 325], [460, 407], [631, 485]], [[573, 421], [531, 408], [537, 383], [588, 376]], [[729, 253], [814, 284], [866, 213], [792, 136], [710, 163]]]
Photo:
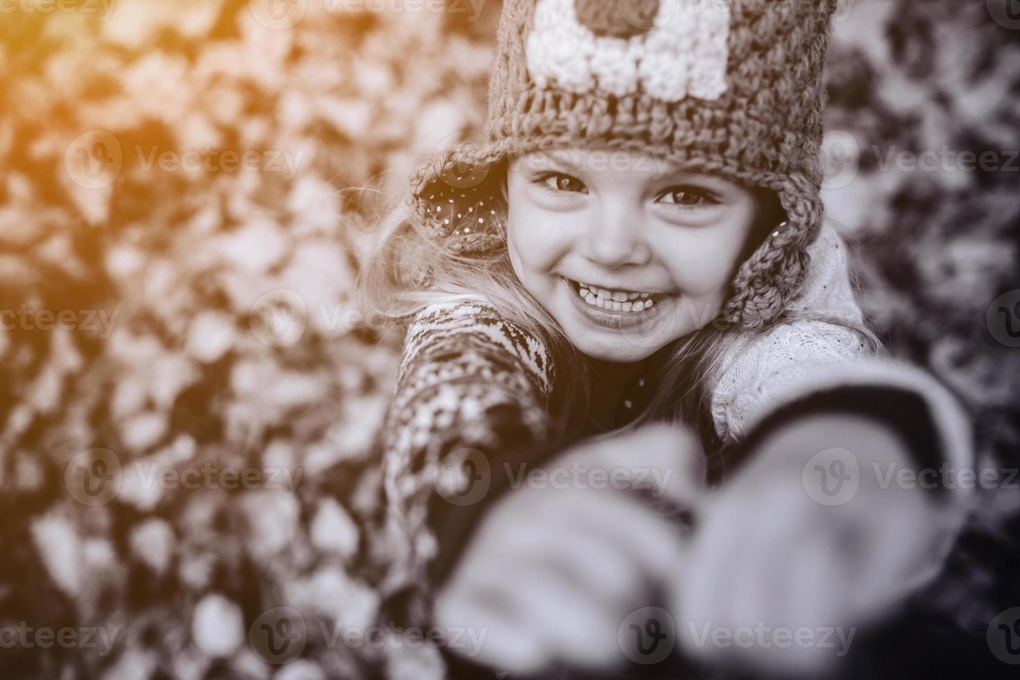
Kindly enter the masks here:
[[[794, 309], [861, 322], [846, 252], [826, 226], [812, 246], [811, 267]], [[539, 338], [482, 299], [434, 304], [416, 315], [385, 432], [388, 519], [406, 533], [413, 552], [411, 569], [394, 578], [420, 585], [442, 577], [445, 568], [428, 569], [441, 553], [437, 503], [474, 505], [482, 495], [491, 502], [494, 493], [487, 491], [502, 461], [541, 459], [552, 430], [549, 406], [568, 372], [569, 367], [553, 365]], [[617, 367], [603, 378], [606, 389], [593, 396], [596, 411], [612, 412], [615, 406], [615, 425], [625, 424], [648, 396], [642, 366]], [[741, 338], [713, 380], [712, 424], [724, 444], [735, 446], [784, 407], [788, 413], [792, 405], [817, 406], [825, 395], [851, 387], [891, 390], [875, 407], [876, 417], [901, 430], [933, 430], [908, 431], [906, 438], [926, 442], [917, 448], [922, 456], [933, 449], [935, 457], [954, 465], [969, 464], [966, 419], [946, 389], [918, 369], [868, 356], [858, 333], [828, 321], [793, 321]], [[908, 414], [905, 394], [925, 413]], [[862, 401], [868, 402], [836, 400]], [[482, 480], [482, 488], [473, 486], [472, 477]], [[460, 494], [463, 503], [456, 501]], [[471, 494], [475, 498], [467, 498]], [[449, 527], [443, 529], [449, 533]], [[439, 562], [449, 566], [448, 560]]]

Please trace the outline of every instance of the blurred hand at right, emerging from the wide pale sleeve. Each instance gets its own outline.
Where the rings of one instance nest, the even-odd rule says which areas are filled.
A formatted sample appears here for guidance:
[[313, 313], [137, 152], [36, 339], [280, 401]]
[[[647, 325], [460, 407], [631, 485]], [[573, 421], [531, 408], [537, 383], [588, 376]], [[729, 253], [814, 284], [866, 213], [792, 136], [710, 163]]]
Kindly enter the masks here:
[[910, 466], [909, 452], [862, 417], [806, 418], [766, 438], [701, 509], [673, 595], [683, 650], [822, 672], [847, 653], [856, 626], [930, 574], [941, 505], [923, 488], [883, 488], [875, 464]]

